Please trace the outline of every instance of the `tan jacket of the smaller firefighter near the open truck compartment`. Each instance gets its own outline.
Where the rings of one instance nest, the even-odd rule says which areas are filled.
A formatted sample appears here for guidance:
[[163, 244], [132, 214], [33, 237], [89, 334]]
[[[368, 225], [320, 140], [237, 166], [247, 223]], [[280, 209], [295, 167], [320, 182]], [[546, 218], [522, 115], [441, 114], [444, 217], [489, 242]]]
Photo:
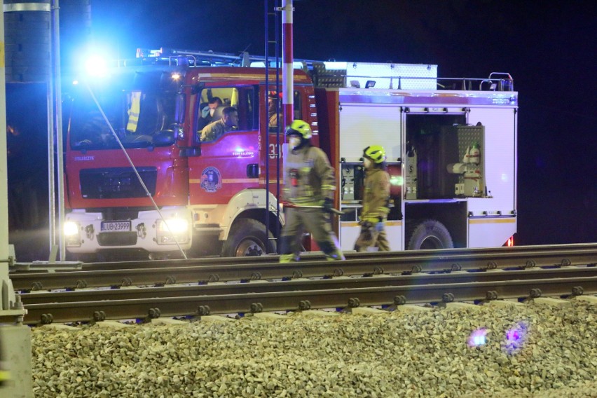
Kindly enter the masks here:
[[383, 169], [365, 171], [362, 221], [376, 223], [390, 212], [390, 174]]

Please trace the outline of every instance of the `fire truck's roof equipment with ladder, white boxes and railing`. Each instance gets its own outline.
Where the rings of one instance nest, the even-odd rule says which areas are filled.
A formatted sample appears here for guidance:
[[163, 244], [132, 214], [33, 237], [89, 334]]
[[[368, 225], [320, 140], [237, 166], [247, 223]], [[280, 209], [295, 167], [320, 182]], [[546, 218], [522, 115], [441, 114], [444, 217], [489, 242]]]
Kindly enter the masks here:
[[[265, 67], [266, 58], [200, 50], [137, 49], [137, 58], [184, 67]], [[275, 67], [275, 60], [267, 60]], [[376, 62], [336, 62], [294, 60], [295, 69], [310, 74], [317, 87], [384, 88], [395, 90], [514, 91], [514, 79], [505, 72], [492, 72], [488, 78], [440, 78], [437, 65]]]

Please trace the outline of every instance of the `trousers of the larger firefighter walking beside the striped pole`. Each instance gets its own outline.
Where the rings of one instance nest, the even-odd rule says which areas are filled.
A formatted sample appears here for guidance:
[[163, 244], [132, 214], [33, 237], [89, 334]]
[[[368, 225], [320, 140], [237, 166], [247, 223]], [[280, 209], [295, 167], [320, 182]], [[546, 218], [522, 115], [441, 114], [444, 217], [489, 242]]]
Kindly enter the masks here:
[[338, 240], [331, 231], [330, 216], [320, 209], [296, 209], [287, 207], [284, 228], [280, 235], [280, 263], [299, 261], [303, 232], [313, 235], [322, 252], [329, 260], [343, 260]]

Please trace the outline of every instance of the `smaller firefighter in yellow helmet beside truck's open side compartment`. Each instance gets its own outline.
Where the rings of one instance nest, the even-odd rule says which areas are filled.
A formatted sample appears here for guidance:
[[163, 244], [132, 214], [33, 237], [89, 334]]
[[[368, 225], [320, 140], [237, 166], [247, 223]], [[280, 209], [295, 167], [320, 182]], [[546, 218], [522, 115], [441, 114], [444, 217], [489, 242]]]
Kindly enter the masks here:
[[384, 230], [384, 221], [390, 212], [390, 174], [385, 167], [383, 146], [371, 145], [363, 150], [365, 181], [363, 210], [359, 224], [361, 233], [355, 242], [357, 252], [378, 247], [380, 252], [390, 250]]

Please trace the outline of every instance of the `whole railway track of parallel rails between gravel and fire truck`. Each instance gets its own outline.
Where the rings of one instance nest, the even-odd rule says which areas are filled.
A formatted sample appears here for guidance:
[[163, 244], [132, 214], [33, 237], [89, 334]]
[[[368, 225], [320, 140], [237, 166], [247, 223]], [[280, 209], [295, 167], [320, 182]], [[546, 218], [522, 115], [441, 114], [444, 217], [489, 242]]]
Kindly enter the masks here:
[[27, 324], [597, 294], [596, 245], [509, 249], [349, 254], [333, 263], [316, 255], [291, 264], [278, 264], [276, 257], [151, 268], [123, 263], [15, 272], [11, 279], [15, 288], [35, 281], [42, 289], [70, 290], [20, 290]]

